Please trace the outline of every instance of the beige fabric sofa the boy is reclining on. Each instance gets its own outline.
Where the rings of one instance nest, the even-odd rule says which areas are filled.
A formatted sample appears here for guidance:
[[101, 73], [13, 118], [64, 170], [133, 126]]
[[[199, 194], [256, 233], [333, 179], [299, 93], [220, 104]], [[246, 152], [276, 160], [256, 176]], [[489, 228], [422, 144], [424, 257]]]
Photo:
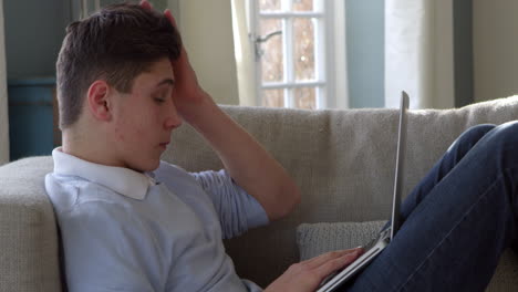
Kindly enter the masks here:
[[[262, 286], [301, 259], [365, 243], [391, 213], [397, 108], [302, 111], [221, 106], [291, 174], [302, 201], [291, 215], [225, 241], [237, 273]], [[408, 113], [404, 194], [466, 128], [518, 119], [518, 96], [455, 109]], [[222, 167], [189, 126], [163, 159], [189, 171]], [[0, 291], [65, 291], [59, 227], [44, 190], [50, 156], [0, 167]], [[487, 291], [518, 291], [518, 258], [506, 250]]]

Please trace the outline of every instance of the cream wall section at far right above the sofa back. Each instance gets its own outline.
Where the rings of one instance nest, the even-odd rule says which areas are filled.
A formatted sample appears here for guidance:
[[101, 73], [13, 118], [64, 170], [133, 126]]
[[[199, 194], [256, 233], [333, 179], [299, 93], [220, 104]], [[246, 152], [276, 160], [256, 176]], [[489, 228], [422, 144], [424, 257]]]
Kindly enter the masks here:
[[518, 1], [474, 0], [475, 102], [518, 94]]

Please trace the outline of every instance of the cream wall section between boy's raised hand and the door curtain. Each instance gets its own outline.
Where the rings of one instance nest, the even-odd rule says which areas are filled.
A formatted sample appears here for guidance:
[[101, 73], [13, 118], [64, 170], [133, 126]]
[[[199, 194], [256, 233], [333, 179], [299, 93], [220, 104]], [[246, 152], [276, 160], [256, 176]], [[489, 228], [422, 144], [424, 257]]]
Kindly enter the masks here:
[[217, 103], [239, 104], [230, 0], [179, 0], [177, 7], [199, 83]]

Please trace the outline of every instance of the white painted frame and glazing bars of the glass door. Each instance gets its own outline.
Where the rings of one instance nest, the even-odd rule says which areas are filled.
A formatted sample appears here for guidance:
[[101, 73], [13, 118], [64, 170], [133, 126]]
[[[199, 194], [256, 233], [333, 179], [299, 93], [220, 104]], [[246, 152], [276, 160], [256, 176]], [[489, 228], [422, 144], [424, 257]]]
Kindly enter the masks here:
[[[340, 1], [340, 0], [339, 0]], [[335, 14], [334, 1], [313, 0], [313, 11], [286, 11], [291, 8], [293, 0], [281, 1], [282, 11], [259, 11], [259, 1], [249, 0], [249, 19], [250, 19], [250, 41], [252, 48], [256, 48], [256, 39], [259, 35], [260, 19], [280, 19], [282, 21], [282, 48], [283, 48], [283, 80], [281, 82], [262, 82], [262, 64], [261, 61], [255, 60], [256, 71], [256, 104], [262, 105], [263, 90], [283, 90], [284, 107], [296, 108], [296, 100], [293, 96], [294, 88], [314, 88], [315, 91], [315, 108], [322, 109], [329, 107], [338, 107], [338, 102], [332, 96], [335, 96], [335, 64], [332, 59], [335, 56], [334, 48], [334, 27]], [[344, 11], [342, 9], [344, 15]], [[314, 35], [314, 80], [297, 81], [294, 77], [294, 51], [293, 42], [288, 40], [293, 39], [292, 22], [294, 18], [304, 18], [312, 20]], [[345, 53], [345, 52], [343, 52]], [[342, 65], [339, 62], [338, 65]], [[344, 64], [343, 64], [344, 66]], [[343, 107], [343, 106], [342, 106]]]

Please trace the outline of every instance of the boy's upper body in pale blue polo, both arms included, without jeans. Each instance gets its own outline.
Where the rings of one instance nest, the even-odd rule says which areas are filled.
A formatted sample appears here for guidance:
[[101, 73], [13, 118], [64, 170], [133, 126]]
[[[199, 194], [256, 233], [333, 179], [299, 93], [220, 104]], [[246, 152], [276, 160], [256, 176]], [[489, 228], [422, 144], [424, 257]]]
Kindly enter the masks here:
[[[63, 146], [45, 188], [70, 291], [260, 291], [222, 238], [284, 217], [300, 195], [284, 169], [199, 86], [169, 11], [103, 9], [66, 29], [56, 62]], [[160, 161], [182, 121], [225, 165]], [[267, 291], [314, 291], [361, 250], [292, 265]]]

